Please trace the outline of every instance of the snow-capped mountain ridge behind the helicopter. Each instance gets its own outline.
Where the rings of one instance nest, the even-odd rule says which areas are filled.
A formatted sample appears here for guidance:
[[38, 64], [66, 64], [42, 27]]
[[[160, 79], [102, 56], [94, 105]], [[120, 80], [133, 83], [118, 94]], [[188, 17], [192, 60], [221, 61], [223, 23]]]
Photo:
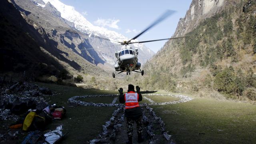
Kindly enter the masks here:
[[[86, 18], [84, 18], [82, 14], [77, 12], [73, 6], [65, 5], [59, 0], [34, 0], [34, 1], [36, 1], [38, 5], [41, 7], [44, 7], [45, 4], [50, 2], [61, 13], [62, 18], [70, 22], [73, 22], [75, 25], [75, 28], [80, 32], [88, 34], [88, 36], [91, 38], [91, 40], [89, 41], [94, 47], [94, 49], [96, 50], [96, 52], [98, 52], [98, 54], [102, 56], [102, 58], [104, 58], [110, 64], [114, 64], [114, 61], [116, 60], [116, 58], [114, 57], [114, 52], [120, 50], [120, 47], [117, 46], [116, 42], [102, 43], [102, 41], [104, 40], [100, 40], [99, 38], [94, 38], [94, 37], [98, 36], [100, 38], [108, 38], [109, 40], [118, 41], [118, 42], [122, 42], [124, 40], [129, 39], [115, 31], [108, 30], [106, 28], [99, 27], [99, 26], [94, 26], [88, 20], [86, 20]], [[137, 40], [134, 40], [134, 41], [137, 41]], [[113, 46], [111, 48], [105, 47], [113, 44], [116, 46]], [[147, 48], [144, 44], [134, 44], [134, 48], [139, 49], [139, 52], [140, 52], [139, 61], [142, 64], [154, 55], [154, 52], [149, 48]]]

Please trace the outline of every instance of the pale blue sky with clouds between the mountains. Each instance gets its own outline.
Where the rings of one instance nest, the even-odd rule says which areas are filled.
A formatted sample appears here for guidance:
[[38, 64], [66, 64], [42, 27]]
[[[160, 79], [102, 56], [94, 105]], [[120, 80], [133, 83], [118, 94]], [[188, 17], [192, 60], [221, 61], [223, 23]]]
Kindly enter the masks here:
[[[140, 41], [170, 38], [174, 34], [180, 18], [189, 9], [192, 0], [60, 0], [74, 6], [94, 25], [114, 30], [128, 38], [133, 38], [144, 30], [166, 10], [175, 10], [172, 16], [142, 34]], [[157, 52], [166, 41], [145, 43]]]

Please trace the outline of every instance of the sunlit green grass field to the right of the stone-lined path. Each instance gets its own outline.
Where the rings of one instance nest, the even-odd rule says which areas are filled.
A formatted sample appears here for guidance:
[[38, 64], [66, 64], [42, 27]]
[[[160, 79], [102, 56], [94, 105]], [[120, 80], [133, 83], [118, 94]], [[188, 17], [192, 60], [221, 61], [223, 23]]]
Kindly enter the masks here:
[[255, 142], [256, 107], [252, 104], [195, 98], [152, 108], [178, 144]]

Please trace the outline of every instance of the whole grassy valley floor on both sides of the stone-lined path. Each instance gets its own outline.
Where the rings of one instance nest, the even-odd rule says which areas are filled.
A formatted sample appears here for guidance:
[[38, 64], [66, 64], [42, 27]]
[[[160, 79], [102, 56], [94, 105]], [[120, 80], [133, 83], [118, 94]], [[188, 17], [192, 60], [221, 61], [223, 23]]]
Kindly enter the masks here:
[[[95, 94], [118, 94], [117, 91], [104, 91], [96, 89], [83, 89], [54, 84], [37, 83], [39, 86], [50, 88], [57, 92], [56, 96], [50, 98], [49, 104], [56, 103], [58, 106], [65, 106], [67, 109], [66, 118], [54, 120], [47, 126], [47, 130], [55, 129], [63, 125], [64, 133], [68, 134], [61, 141], [62, 144], [90, 143], [90, 140], [97, 138], [102, 132], [102, 125], [110, 120], [112, 113], [117, 107], [94, 107], [71, 105], [68, 99], [74, 96], [95, 95]], [[160, 93], [160, 92], [156, 92]], [[172, 135], [170, 138], [177, 144], [204, 144], [204, 143], [254, 143], [256, 131], [256, 106], [246, 103], [213, 100], [209, 98], [194, 98], [189, 102], [167, 105], [150, 105], [153, 102], [179, 101], [179, 98], [170, 96], [143, 95], [141, 102], [148, 103], [153, 108], [156, 116], [162, 118], [165, 123], [165, 130]], [[110, 104], [115, 97], [80, 98], [79, 100], [95, 103]], [[116, 102], [118, 103], [118, 100]], [[150, 116], [143, 107], [146, 116]], [[148, 109], [149, 110], [149, 109]], [[120, 115], [121, 116], [121, 115]], [[121, 122], [121, 131], [116, 142], [122, 141], [125, 136], [125, 121]], [[136, 124], [134, 124], [136, 125]], [[135, 127], [135, 126], [134, 126]], [[162, 136], [154, 126], [156, 136]], [[136, 136], [136, 132], [134, 131]], [[165, 140], [164, 136], [161, 137]], [[136, 140], [136, 139], [134, 139]], [[20, 141], [20, 140], [19, 140]], [[148, 142], [146, 140], [146, 142]], [[160, 141], [159, 141], [160, 142]], [[162, 142], [161, 142], [162, 143]]]

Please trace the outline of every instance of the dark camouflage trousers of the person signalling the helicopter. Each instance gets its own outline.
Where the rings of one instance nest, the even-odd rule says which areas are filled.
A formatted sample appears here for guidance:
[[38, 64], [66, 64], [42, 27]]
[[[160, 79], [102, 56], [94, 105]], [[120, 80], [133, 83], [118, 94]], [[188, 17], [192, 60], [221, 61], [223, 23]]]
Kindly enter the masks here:
[[128, 134], [128, 138], [132, 138], [132, 132], [133, 132], [133, 124], [134, 121], [137, 124], [137, 133], [138, 135], [141, 135], [142, 133], [142, 121], [141, 121], [141, 116], [138, 117], [137, 119], [133, 119], [133, 118], [126, 118], [127, 123], [126, 123], [126, 127], [127, 127], [127, 134]]

